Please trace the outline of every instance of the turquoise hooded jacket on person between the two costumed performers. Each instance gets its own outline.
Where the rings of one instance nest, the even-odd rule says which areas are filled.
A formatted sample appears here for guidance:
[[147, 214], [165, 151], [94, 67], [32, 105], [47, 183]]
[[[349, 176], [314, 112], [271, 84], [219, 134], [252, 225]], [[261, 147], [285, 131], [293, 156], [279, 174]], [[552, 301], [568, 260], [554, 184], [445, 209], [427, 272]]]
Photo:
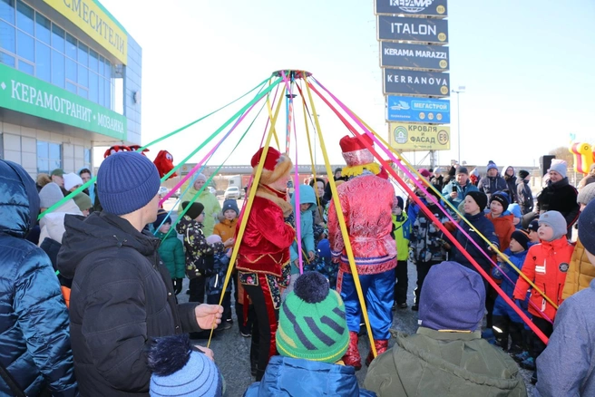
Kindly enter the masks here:
[[[310, 208], [306, 211], [299, 212], [299, 227], [302, 236], [302, 256], [307, 256], [307, 253], [312, 251], [316, 253], [314, 247], [314, 214], [317, 210], [316, 195], [314, 189], [309, 185], [299, 185], [299, 204], [310, 204]], [[294, 213], [298, 213], [299, 206], [296, 206], [296, 194], [291, 196], [291, 205], [295, 208]], [[297, 218], [296, 218], [297, 220]], [[296, 230], [297, 232], [297, 230]], [[299, 273], [297, 266], [293, 262], [298, 259], [298, 244], [294, 241], [291, 247], [289, 247], [289, 253], [291, 254], [291, 273]], [[305, 253], [305, 254], [304, 254]], [[306, 262], [306, 258], [304, 258]]]

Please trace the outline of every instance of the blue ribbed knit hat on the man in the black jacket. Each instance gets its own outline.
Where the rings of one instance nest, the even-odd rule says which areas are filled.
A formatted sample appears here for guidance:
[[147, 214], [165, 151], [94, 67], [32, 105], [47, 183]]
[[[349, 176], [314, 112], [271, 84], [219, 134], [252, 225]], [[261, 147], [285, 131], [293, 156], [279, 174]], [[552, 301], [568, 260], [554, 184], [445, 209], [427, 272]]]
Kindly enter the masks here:
[[155, 164], [136, 151], [121, 151], [103, 160], [97, 172], [97, 194], [104, 211], [130, 214], [157, 195], [161, 180]]

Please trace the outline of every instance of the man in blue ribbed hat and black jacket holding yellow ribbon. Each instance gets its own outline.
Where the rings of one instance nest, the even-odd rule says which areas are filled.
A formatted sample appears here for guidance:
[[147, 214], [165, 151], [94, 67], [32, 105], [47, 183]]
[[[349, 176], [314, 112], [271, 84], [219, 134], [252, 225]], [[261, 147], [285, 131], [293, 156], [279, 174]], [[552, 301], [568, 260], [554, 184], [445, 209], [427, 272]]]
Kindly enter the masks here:
[[157, 218], [159, 187], [151, 160], [115, 153], [97, 175], [102, 212], [65, 218], [58, 268], [73, 278], [70, 329], [83, 395], [148, 396], [151, 341], [220, 323], [219, 305], [177, 304], [160, 241], [141, 232]]

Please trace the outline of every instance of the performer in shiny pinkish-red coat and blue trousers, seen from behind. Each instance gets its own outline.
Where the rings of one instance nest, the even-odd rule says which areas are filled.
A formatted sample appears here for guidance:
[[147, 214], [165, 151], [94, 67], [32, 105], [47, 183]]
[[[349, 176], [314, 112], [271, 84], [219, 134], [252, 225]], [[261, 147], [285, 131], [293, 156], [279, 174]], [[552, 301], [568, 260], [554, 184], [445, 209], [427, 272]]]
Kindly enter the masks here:
[[[366, 135], [362, 135], [362, 138], [373, 144]], [[339, 145], [347, 163], [342, 176], [349, 177], [349, 180], [337, 187], [338, 198], [353, 248], [357, 274], [366, 298], [376, 352], [380, 354], [388, 346], [388, 330], [393, 324], [391, 308], [395, 289], [396, 248], [390, 233], [393, 228], [391, 211], [395, 189], [388, 180], [376, 176], [380, 169], [374, 163], [370, 150], [358, 138], [345, 136], [339, 141]], [[328, 210], [328, 235], [333, 261], [340, 264], [337, 291], [345, 301], [349, 326], [349, 348], [343, 361], [358, 370], [362, 366], [357, 350], [357, 332], [362, 322], [362, 309], [357, 298], [354, 277], [349, 269], [345, 241], [333, 201]], [[370, 363], [372, 359], [370, 352], [366, 363]]]

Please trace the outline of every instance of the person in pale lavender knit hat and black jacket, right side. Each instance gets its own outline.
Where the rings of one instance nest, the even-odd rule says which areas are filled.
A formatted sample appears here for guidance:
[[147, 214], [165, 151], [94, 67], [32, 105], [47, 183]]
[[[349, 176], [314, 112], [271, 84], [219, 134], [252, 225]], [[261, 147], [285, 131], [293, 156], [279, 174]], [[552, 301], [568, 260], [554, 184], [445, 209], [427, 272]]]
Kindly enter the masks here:
[[537, 196], [537, 214], [546, 211], [558, 211], [566, 220], [567, 234], [571, 238], [572, 225], [577, 221], [580, 214], [580, 205], [577, 203], [579, 193], [577, 189], [569, 183], [566, 177], [566, 161], [552, 161], [548, 170], [550, 180], [541, 193]]

